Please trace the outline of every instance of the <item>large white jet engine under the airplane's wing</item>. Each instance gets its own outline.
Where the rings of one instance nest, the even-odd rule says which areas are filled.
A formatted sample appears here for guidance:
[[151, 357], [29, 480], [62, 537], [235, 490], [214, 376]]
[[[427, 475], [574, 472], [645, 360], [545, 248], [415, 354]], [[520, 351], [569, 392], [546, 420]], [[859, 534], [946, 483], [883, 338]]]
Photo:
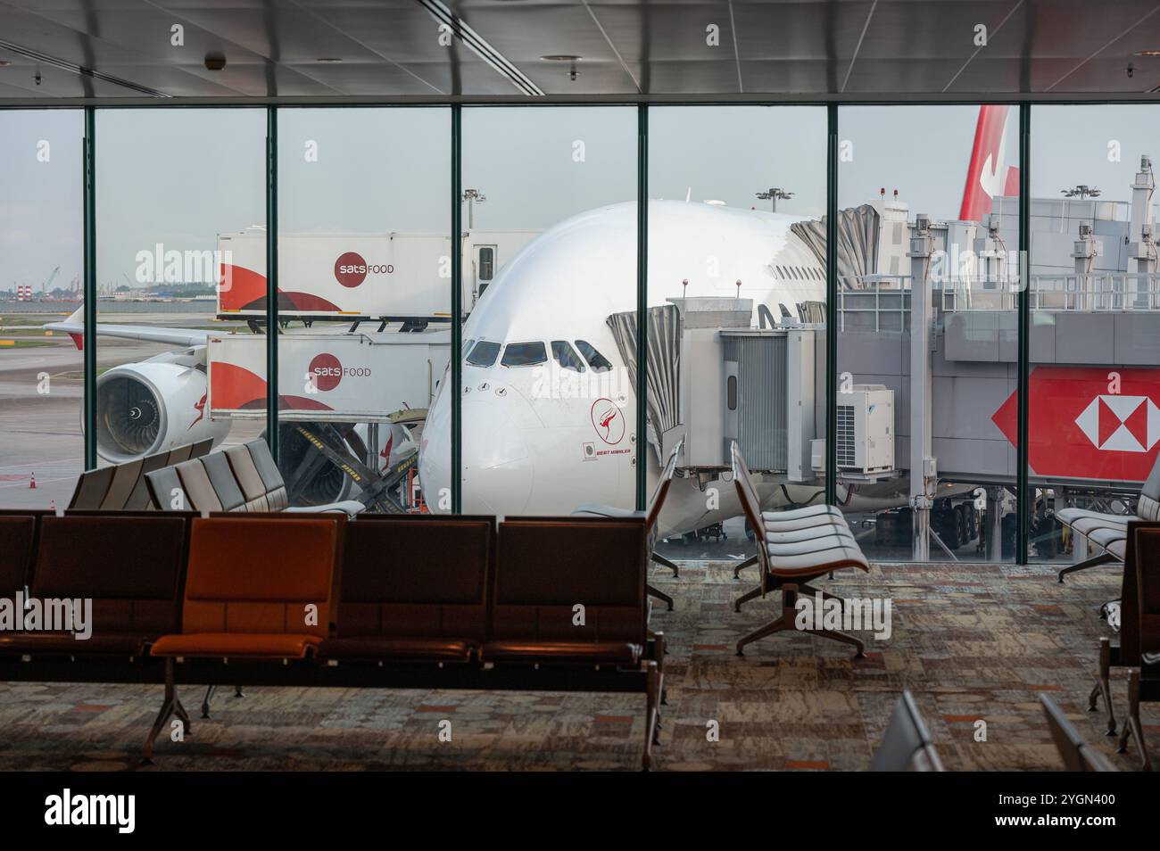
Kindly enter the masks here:
[[210, 420], [205, 368], [181, 355], [114, 366], [96, 379], [96, 450], [121, 464], [186, 443], [225, 439]]

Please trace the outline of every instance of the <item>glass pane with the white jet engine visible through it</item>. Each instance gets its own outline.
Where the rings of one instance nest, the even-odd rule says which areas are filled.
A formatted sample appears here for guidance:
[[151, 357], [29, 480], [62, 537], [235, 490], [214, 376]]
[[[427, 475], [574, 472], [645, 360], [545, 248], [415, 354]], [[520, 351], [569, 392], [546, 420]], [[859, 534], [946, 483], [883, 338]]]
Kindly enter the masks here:
[[99, 110], [96, 146], [102, 465], [261, 437], [266, 350], [233, 303], [264, 286], [266, 110]]

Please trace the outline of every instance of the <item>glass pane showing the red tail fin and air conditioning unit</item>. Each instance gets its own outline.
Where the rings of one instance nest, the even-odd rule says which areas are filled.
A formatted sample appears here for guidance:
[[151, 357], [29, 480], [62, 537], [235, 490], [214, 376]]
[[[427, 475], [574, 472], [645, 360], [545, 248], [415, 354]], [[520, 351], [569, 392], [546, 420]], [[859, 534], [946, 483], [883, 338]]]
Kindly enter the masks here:
[[871, 560], [1010, 560], [1018, 111], [849, 107], [839, 128], [846, 517]]

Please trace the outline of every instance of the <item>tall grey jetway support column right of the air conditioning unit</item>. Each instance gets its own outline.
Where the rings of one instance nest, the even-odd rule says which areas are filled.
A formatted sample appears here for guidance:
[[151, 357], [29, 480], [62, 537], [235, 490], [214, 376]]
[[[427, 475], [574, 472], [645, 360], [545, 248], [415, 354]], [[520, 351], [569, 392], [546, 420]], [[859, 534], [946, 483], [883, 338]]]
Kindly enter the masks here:
[[911, 515], [915, 561], [930, 560], [930, 507], [935, 459], [930, 454], [930, 334], [933, 293], [927, 271], [934, 240], [930, 217], [915, 218], [911, 239]]

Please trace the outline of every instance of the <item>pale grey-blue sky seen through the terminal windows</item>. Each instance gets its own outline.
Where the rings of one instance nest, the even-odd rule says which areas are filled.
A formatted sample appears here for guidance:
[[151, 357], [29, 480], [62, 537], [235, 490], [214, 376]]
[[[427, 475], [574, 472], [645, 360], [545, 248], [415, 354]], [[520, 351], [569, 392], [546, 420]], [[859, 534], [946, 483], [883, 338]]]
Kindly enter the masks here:
[[[885, 188], [915, 212], [955, 218], [978, 109], [843, 107], [839, 203]], [[1007, 165], [1017, 165], [1009, 110]], [[1140, 154], [1160, 158], [1160, 104], [1045, 106], [1031, 117], [1031, 191], [1076, 183], [1128, 201]], [[281, 233], [445, 233], [450, 116], [440, 108], [282, 109]], [[79, 110], [0, 110], [0, 289], [80, 275]], [[545, 228], [636, 197], [637, 114], [628, 107], [463, 110], [463, 186], [486, 201], [476, 226]], [[45, 143], [48, 145], [45, 146]], [[212, 250], [219, 233], [263, 225], [266, 111], [97, 111], [97, 281], [132, 279], [137, 254]], [[826, 112], [819, 107], [654, 107], [650, 197], [760, 206], [754, 194], [793, 194], [778, 211], [820, 216]], [[1160, 165], [1160, 162], [1158, 162]], [[464, 211], [464, 227], [466, 227]]]

